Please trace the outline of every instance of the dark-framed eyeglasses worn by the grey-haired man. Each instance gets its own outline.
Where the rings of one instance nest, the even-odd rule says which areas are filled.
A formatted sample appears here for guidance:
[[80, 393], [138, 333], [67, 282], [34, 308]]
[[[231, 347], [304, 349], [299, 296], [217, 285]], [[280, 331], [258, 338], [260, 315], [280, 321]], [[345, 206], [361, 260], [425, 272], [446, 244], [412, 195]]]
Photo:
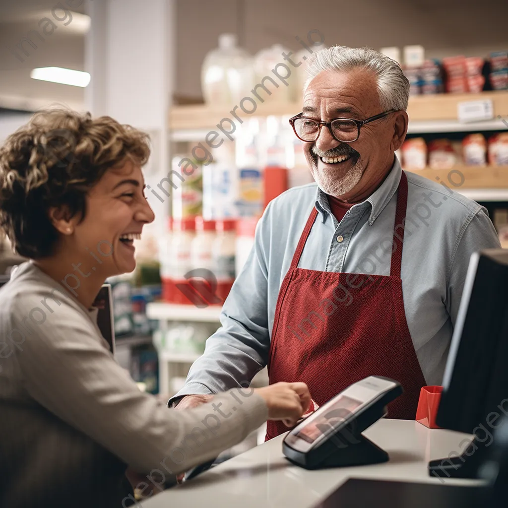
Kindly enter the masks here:
[[326, 125], [330, 130], [333, 138], [342, 143], [353, 143], [360, 136], [360, 127], [366, 123], [373, 122], [379, 118], [383, 118], [390, 113], [394, 113], [396, 109], [391, 109], [385, 113], [371, 116], [365, 120], [354, 120], [353, 118], [334, 118], [329, 122], [316, 121], [312, 118], [302, 116], [300, 113], [293, 118], [290, 118], [289, 122], [295, 131], [296, 137], [302, 141], [311, 142], [319, 138], [321, 134], [321, 127]]

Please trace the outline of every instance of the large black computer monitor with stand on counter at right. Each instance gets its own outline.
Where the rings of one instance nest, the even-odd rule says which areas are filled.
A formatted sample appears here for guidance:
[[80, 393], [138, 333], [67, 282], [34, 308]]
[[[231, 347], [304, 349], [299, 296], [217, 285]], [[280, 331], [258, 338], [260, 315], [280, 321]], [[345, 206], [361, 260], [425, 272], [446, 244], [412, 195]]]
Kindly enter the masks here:
[[[497, 421], [495, 413], [499, 415]], [[483, 426], [498, 426], [508, 413], [508, 249], [474, 253], [469, 262], [436, 423], [440, 427], [476, 434], [478, 451], [454, 460], [432, 461], [456, 477], [475, 477], [483, 460]], [[490, 429], [490, 430], [489, 430]], [[492, 430], [493, 432], [493, 430]], [[482, 437], [480, 436], [482, 435]], [[437, 474], [436, 474], [437, 473]]]

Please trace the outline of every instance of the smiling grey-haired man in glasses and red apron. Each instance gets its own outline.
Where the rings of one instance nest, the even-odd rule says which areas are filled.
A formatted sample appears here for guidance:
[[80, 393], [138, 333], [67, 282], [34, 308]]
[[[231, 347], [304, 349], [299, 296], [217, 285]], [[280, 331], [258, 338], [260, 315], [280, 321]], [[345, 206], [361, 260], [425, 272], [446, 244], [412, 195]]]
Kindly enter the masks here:
[[[223, 326], [170, 404], [197, 405], [268, 365], [270, 383], [303, 381], [317, 405], [391, 377], [404, 394], [389, 416], [414, 419], [420, 388], [441, 383], [469, 257], [499, 241], [485, 208], [401, 170], [409, 83], [394, 60], [333, 47], [308, 71], [290, 123], [315, 184], [268, 205]], [[269, 422], [267, 437], [285, 430]]]

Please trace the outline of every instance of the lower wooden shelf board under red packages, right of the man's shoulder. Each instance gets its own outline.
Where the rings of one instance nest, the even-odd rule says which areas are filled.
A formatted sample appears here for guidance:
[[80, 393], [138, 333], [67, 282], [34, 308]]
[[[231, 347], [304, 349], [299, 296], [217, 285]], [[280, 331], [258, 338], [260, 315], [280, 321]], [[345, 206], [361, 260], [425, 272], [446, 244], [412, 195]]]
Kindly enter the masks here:
[[[508, 166], [455, 166], [452, 169], [429, 168], [411, 172], [434, 182], [442, 181], [457, 192], [461, 192], [463, 189], [503, 189], [508, 191]], [[462, 184], [458, 185], [462, 180]]]

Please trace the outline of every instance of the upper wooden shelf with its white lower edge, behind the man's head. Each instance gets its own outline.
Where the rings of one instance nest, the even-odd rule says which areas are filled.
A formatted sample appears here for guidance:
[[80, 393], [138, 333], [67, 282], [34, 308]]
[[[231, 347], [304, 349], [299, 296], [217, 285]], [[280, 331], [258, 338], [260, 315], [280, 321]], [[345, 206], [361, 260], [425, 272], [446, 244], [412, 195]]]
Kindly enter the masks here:
[[[457, 105], [460, 102], [491, 99], [494, 108], [494, 119], [485, 122], [459, 123]], [[186, 141], [204, 139], [209, 130], [216, 129], [217, 123], [223, 118], [232, 118], [230, 111], [234, 105], [208, 106], [204, 104], [192, 106], [174, 106], [169, 113], [170, 129], [174, 140]], [[277, 115], [293, 116], [301, 110], [300, 103], [265, 103], [258, 104], [256, 111], [249, 115], [239, 108], [236, 114], [245, 120], [250, 116]], [[503, 130], [504, 123], [498, 115], [508, 116], [508, 91], [492, 91], [482, 93], [439, 93], [435, 95], [411, 97], [407, 109], [410, 120], [410, 132], [455, 132], [478, 130]], [[238, 120], [235, 120], [238, 124]], [[225, 128], [231, 128], [226, 122]], [[453, 131], [452, 131], [453, 129]], [[193, 138], [192, 136], [196, 136]]]

